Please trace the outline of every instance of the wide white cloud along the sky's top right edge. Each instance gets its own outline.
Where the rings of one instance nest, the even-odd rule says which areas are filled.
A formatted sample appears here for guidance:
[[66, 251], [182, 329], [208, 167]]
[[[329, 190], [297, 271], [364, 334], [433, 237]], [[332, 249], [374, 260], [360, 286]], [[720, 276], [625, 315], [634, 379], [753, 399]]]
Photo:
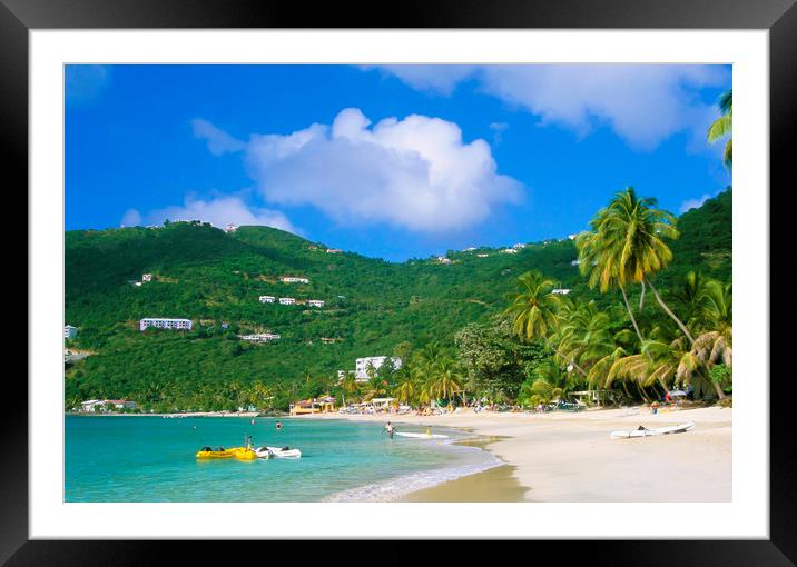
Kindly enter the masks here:
[[485, 66], [465, 74], [461, 74], [464, 70], [441, 73], [430, 69], [425, 74], [415, 70], [409, 74], [394, 67], [381, 69], [426, 90], [435, 89], [432, 77], [441, 74], [436, 90], [443, 94], [453, 91], [456, 81], [475, 78], [481, 91], [539, 116], [542, 125], [558, 125], [579, 136], [607, 125], [642, 150], [677, 132], [692, 131], [696, 121], [705, 122], [711, 105], [701, 102], [696, 89], [722, 87], [730, 80], [728, 70], [719, 66]]

